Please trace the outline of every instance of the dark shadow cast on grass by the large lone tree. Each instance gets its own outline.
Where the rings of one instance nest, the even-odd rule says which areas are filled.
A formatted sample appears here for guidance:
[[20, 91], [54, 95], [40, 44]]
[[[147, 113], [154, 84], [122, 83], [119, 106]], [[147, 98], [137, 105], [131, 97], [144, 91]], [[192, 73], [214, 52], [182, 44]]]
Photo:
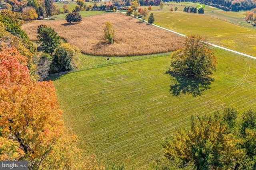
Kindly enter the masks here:
[[170, 92], [173, 96], [180, 96], [181, 94], [192, 94], [192, 96], [201, 96], [203, 92], [210, 89], [210, 85], [214, 78], [194, 78], [182, 76], [171, 70], [166, 71], [166, 74], [171, 76], [173, 83], [170, 85]]

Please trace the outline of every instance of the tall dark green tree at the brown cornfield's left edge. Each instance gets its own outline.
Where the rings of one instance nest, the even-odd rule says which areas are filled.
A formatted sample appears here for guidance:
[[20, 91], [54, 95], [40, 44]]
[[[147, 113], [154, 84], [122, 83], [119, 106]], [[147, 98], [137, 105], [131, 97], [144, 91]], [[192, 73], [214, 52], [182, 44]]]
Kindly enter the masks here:
[[60, 36], [54, 29], [46, 25], [40, 25], [37, 32], [39, 34], [37, 35], [37, 43], [42, 43], [41, 46], [44, 48], [44, 52], [51, 55], [61, 44]]

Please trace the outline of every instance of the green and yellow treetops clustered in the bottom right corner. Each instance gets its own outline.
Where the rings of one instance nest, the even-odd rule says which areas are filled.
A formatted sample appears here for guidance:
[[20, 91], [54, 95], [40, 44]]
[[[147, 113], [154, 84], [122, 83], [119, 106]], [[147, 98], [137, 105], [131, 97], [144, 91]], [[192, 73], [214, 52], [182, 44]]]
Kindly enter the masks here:
[[256, 112], [238, 117], [233, 108], [212, 116], [191, 117], [190, 126], [176, 129], [162, 145], [165, 158], [158, 169], [253, 170], [256, 168]]

